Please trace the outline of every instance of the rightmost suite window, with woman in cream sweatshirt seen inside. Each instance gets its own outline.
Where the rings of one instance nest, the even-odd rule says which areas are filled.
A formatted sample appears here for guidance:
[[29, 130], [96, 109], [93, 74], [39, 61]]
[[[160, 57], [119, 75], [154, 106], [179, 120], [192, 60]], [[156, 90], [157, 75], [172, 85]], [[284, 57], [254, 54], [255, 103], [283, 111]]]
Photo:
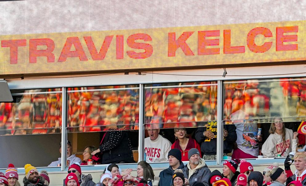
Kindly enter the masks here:
[[[299, 145], [303, 147], [305, 135], [294, 135], [294, 132], [298, 131], [306, 115], [305, 80], [225, 82], [224, 128], [234, 126], [237, 140], [232, 152], [224, 152], [224, 159], [286, 157], [296, 152]], [[224, 139], [225, 147], [228, 138]]]

